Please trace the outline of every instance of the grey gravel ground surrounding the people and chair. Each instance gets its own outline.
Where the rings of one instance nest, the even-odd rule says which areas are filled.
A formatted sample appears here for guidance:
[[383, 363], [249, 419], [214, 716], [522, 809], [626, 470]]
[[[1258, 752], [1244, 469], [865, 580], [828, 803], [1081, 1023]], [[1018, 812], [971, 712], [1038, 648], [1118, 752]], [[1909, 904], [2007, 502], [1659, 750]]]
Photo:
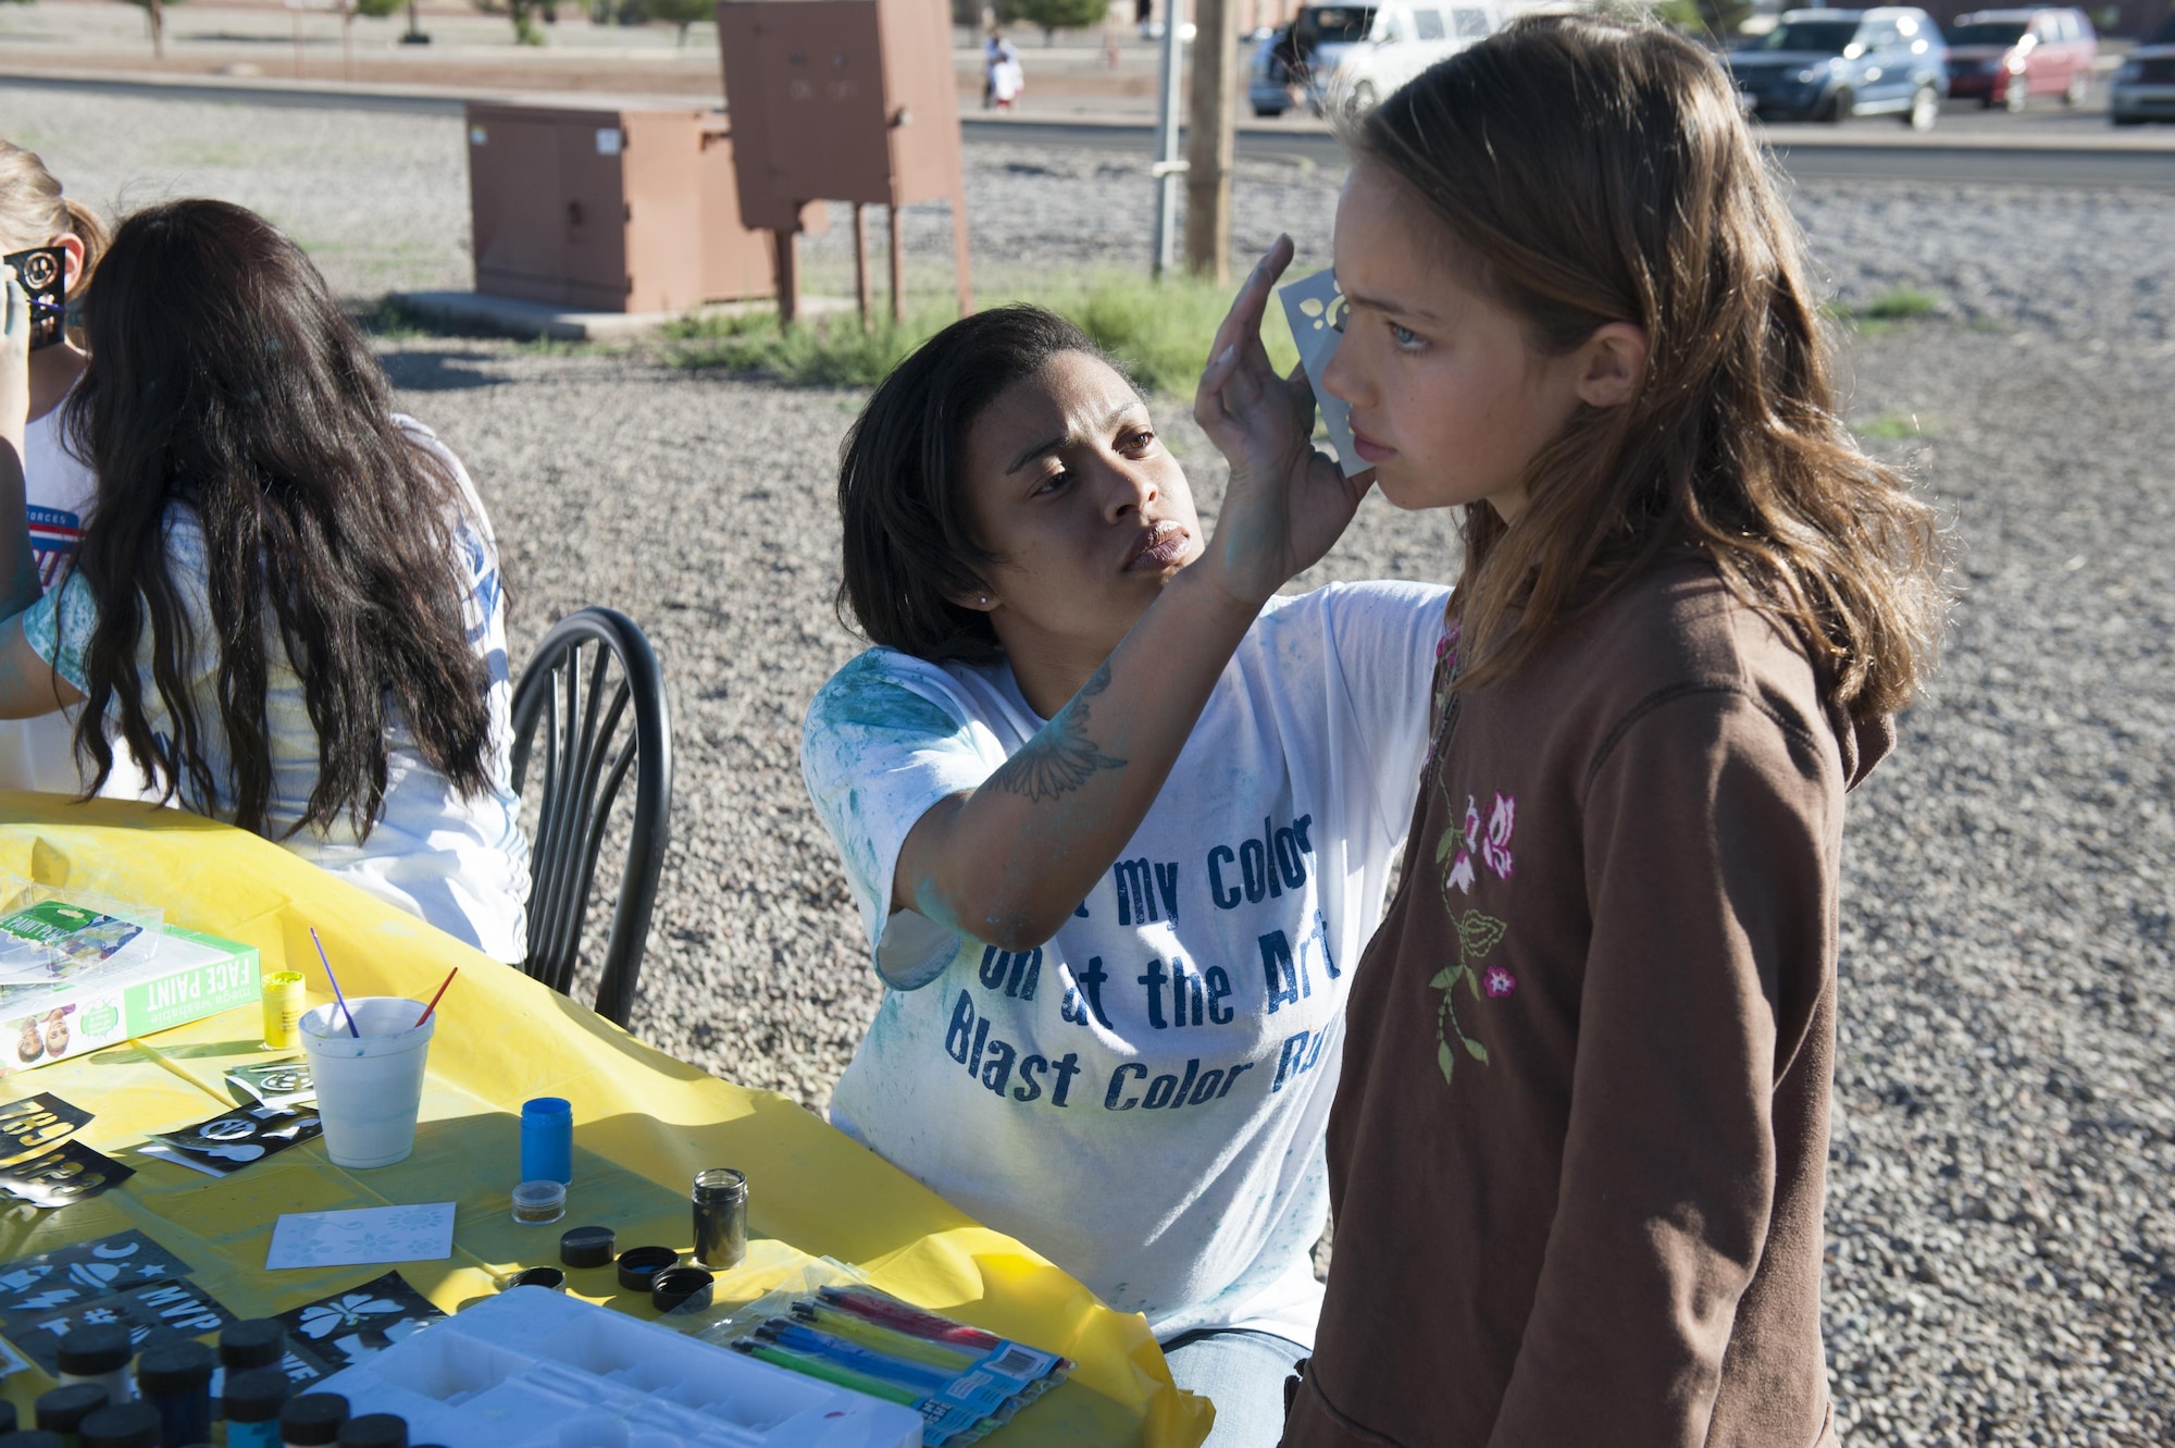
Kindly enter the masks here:
[[[0, 135], [98, 200], [257, 204], [355, 298], [465, 283], [450, 122], [0, 87]], [[1144, 254], [1142, 167], [968, 159], [992, 265]], [[1240, 248], [1290, 226], [1320, 259], [1331, 189], [1248, 163]], [[1853, 417], [1955, 520], [1964, 587], [1938, 689], [1847, 835], [1842, 1424], [1868, 1444], [2175, 1441], [2175, 196], [1851, 183], [1794, 207], [1844, 304], [1942, 298], [1855, 339]], [[942, 209], [909, 215], [909, 241], [942, 257]], [[811, 270], [840, 244], [816, 239]], [[609, 602], [663, 657], [679, 789], [635, 1028], [820, 1104], [874, 1009], [796, 767], [800, 711], [855, 650], [829, 613], [829, 487], [857, 398], [492, 341], [391, 339], [385, 361], [492, 500], [515, 650]], [[1214, 461], [1161, 411], [1211, 504]], [[1446, 520], [1370, 500], [1318, 576], [1442, 578], [1453, 557]]]

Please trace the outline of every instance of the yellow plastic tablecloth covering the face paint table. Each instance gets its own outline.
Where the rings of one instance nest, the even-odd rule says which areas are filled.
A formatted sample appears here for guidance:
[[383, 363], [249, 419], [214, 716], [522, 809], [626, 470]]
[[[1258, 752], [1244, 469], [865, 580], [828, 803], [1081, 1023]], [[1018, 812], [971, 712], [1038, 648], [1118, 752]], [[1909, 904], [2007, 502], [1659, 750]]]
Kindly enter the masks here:
[[[63, 1211], [0, 1213], [0, 1261], [135, 1226], [241, 1318], [283, 1313], [389, 1270], [459, 1311], [511, 1270], [557, 1263], [561, 1226], [611, 1226], [622, 1248], [692, 1248], [687, 1183], [703, 1168], [733, 1165], [748, 1174], [750, 1235], [770, 1241], [750, 1244], [750, 1265], [718, 1281], [713, 1315], [776, 1278], [763, 1263], [835, 1257], [900, 1298], [1079, 1363], [1070, 1383], [990, 1439], [996, 1448], [1194, 1448], [1207, 1435], [1207, 1402], [1172, 1387], [1142, 1318], [1109, 1311], [796, 1102], [674, 1061], [274, 844], [174, 809], [0, 791], [0, 872], [163, 907], [170, 924], [257, 946], [268, 972], [304, 972], [313, 1002], [331, 989], [309, 926], [341, 989], [357, 996], [428, 1000], [461, 968], [439, 1007], [415, 1154], [391, 1168], [350, 1172], [311, 1141], [217, 1181], [128, 1150], [150, 1131], [191, 1126], [231, 1104], [224, 1072], [272, 1054], [259, 1046], [257, 1007], [15, 1074], [0, 1098], [52, 1091], [94, 1111], [78, 1139], [137, 1174]], [[574, 1102], [574, 1185], [559, 1226], [515, 1226], [507, 1204], [520, 1102], [531, 1096]], [[263, 1268], [283, 1211], [444, 1200], [459, 1202], [448, 1261]], [[616, 1296], [609, 1268], [568, 1276], [581, 1296], [650, 1315], [646, 1300]], [[26, 1426], [44, 1387], [37, 1368], [7, 1383]]]

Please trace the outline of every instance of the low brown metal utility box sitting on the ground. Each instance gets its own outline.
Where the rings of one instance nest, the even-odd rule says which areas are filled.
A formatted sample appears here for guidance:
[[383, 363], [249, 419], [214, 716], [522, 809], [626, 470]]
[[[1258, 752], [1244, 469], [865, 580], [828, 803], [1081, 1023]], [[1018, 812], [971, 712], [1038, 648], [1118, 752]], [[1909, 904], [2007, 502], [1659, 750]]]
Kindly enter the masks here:
[[468, 107], [476, 291], [581, 311], [772, 296], [718, 111]]

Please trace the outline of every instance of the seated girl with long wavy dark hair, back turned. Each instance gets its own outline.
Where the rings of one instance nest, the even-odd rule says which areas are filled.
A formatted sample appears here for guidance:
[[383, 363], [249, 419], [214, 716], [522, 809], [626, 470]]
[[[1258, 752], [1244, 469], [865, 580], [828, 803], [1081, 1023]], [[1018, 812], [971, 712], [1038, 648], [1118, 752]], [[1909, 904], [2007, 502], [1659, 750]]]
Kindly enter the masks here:
[[474, 485], [263, 217], [128, 217], [63, 411], [98, 476], [39, 591], [26, 311], [0, 346], [0, 717], [85, 704], [167, 800], [274, 839], [502, 961], [526, 954], [505, 600]]

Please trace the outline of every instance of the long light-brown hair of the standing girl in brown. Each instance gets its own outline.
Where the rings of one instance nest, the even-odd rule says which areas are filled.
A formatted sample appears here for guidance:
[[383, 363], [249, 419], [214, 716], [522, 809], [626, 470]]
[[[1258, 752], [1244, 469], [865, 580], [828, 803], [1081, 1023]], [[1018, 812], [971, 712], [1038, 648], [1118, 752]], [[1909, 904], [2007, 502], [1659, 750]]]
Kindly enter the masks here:
[[1351, 143], [1536, 350], [1646, 333], [1638, 396], [1579, 409], [1533, 459], [1516, 528], [1466, 511], [1462, 685], [1696, 546], [1851, 715], [1907, 704], [1947, 609], [1940, 533], [1836, 413], [1803, 237], [1720, 65], [1655, 24], [1533, 15], [1399, 89]]

